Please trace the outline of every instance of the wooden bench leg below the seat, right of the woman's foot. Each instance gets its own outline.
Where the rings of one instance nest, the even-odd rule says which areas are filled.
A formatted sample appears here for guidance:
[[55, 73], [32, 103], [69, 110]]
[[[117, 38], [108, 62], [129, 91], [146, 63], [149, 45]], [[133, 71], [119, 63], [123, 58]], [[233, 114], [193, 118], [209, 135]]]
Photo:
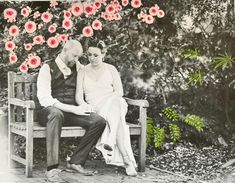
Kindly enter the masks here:
[[146, 140], [145, 138], [139, 137], [139, 171], [145, 171], [145, 160], [146, 160]]

